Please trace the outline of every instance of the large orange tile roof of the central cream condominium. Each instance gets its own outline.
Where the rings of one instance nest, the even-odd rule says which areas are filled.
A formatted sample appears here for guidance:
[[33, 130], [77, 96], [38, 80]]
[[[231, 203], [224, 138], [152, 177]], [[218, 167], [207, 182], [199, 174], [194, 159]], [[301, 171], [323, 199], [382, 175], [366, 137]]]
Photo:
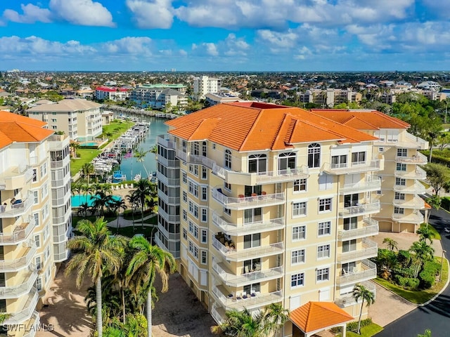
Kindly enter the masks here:
[[185, 140], [208, 139], [234, 150], [283, 150], [295, 143], [376, 140], [352, 126], [302, 110], [255, 102], [222, 103], [166, 122]]

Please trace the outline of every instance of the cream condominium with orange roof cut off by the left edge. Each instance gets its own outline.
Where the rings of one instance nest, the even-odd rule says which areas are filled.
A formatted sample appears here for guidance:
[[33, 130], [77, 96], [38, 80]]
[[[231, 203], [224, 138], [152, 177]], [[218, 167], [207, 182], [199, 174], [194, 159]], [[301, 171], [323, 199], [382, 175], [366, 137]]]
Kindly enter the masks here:
[[0, 112], [0, 312], [11, 315], [0, 333], [7, 336], [34, 336], [40, 298], [68, 256], [68, 138], [44, 126]]

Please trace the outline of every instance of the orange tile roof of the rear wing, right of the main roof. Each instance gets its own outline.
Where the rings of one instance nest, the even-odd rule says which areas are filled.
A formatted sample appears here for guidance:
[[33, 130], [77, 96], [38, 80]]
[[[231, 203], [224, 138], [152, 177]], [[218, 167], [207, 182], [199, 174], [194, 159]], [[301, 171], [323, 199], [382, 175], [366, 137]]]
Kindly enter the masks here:
[[312, 109], [311, 112], [348, 124], [359, 130], [378, 130], [379, 128], [409, 128], [409, 124], [400, 119], [387, 116], [375, 110]]

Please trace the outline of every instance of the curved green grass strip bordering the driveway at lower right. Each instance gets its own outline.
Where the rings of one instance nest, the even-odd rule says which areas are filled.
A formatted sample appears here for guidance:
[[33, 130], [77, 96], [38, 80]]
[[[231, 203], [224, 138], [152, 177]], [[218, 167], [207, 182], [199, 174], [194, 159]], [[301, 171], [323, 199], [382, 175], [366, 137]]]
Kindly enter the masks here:
[[[437, 262], [440, 263], [441, 258], [435, 258]], [[386, 289], [389, 289], [393, 293], [397, 293], [397, 295], [405, 298], [406, 300], [409, 300], [411, 303], [416, 304], [422, 304], [433, 298], [434, 296], [439, 293], [439, 291], [444, 288], [444, 285], [446, 283], [446, 279], [449, 277], [449, 266], [448, 263], [446, 263], [446, 259], [444, 259], [444, 265], [442, 266], [442, 280], [440, 282], [436, 282], [434, 286], [430, 289], [425, 289], [421, 291], [413, 291], [413, 290], [407, 290], [403, 289], [400, 286], [397, 286], [397, 284], [392, 284], [386, 279], [382, 279], [380, 277], [377, 277], [374, 281], [380, 284], [381, 286], [384, 286]]]

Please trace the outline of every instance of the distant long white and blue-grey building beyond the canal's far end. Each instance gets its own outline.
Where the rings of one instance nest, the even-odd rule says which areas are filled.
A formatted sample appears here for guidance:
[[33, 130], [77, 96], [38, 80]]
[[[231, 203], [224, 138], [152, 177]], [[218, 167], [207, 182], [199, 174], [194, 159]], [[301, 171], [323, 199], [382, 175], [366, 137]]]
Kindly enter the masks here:
[[182, 84], [146, 84], [131, 91], [130, 99], [140, 107], [160, 109], [170, 106], [185, 107], [188, 98], [184, 93], [186, 86]]

